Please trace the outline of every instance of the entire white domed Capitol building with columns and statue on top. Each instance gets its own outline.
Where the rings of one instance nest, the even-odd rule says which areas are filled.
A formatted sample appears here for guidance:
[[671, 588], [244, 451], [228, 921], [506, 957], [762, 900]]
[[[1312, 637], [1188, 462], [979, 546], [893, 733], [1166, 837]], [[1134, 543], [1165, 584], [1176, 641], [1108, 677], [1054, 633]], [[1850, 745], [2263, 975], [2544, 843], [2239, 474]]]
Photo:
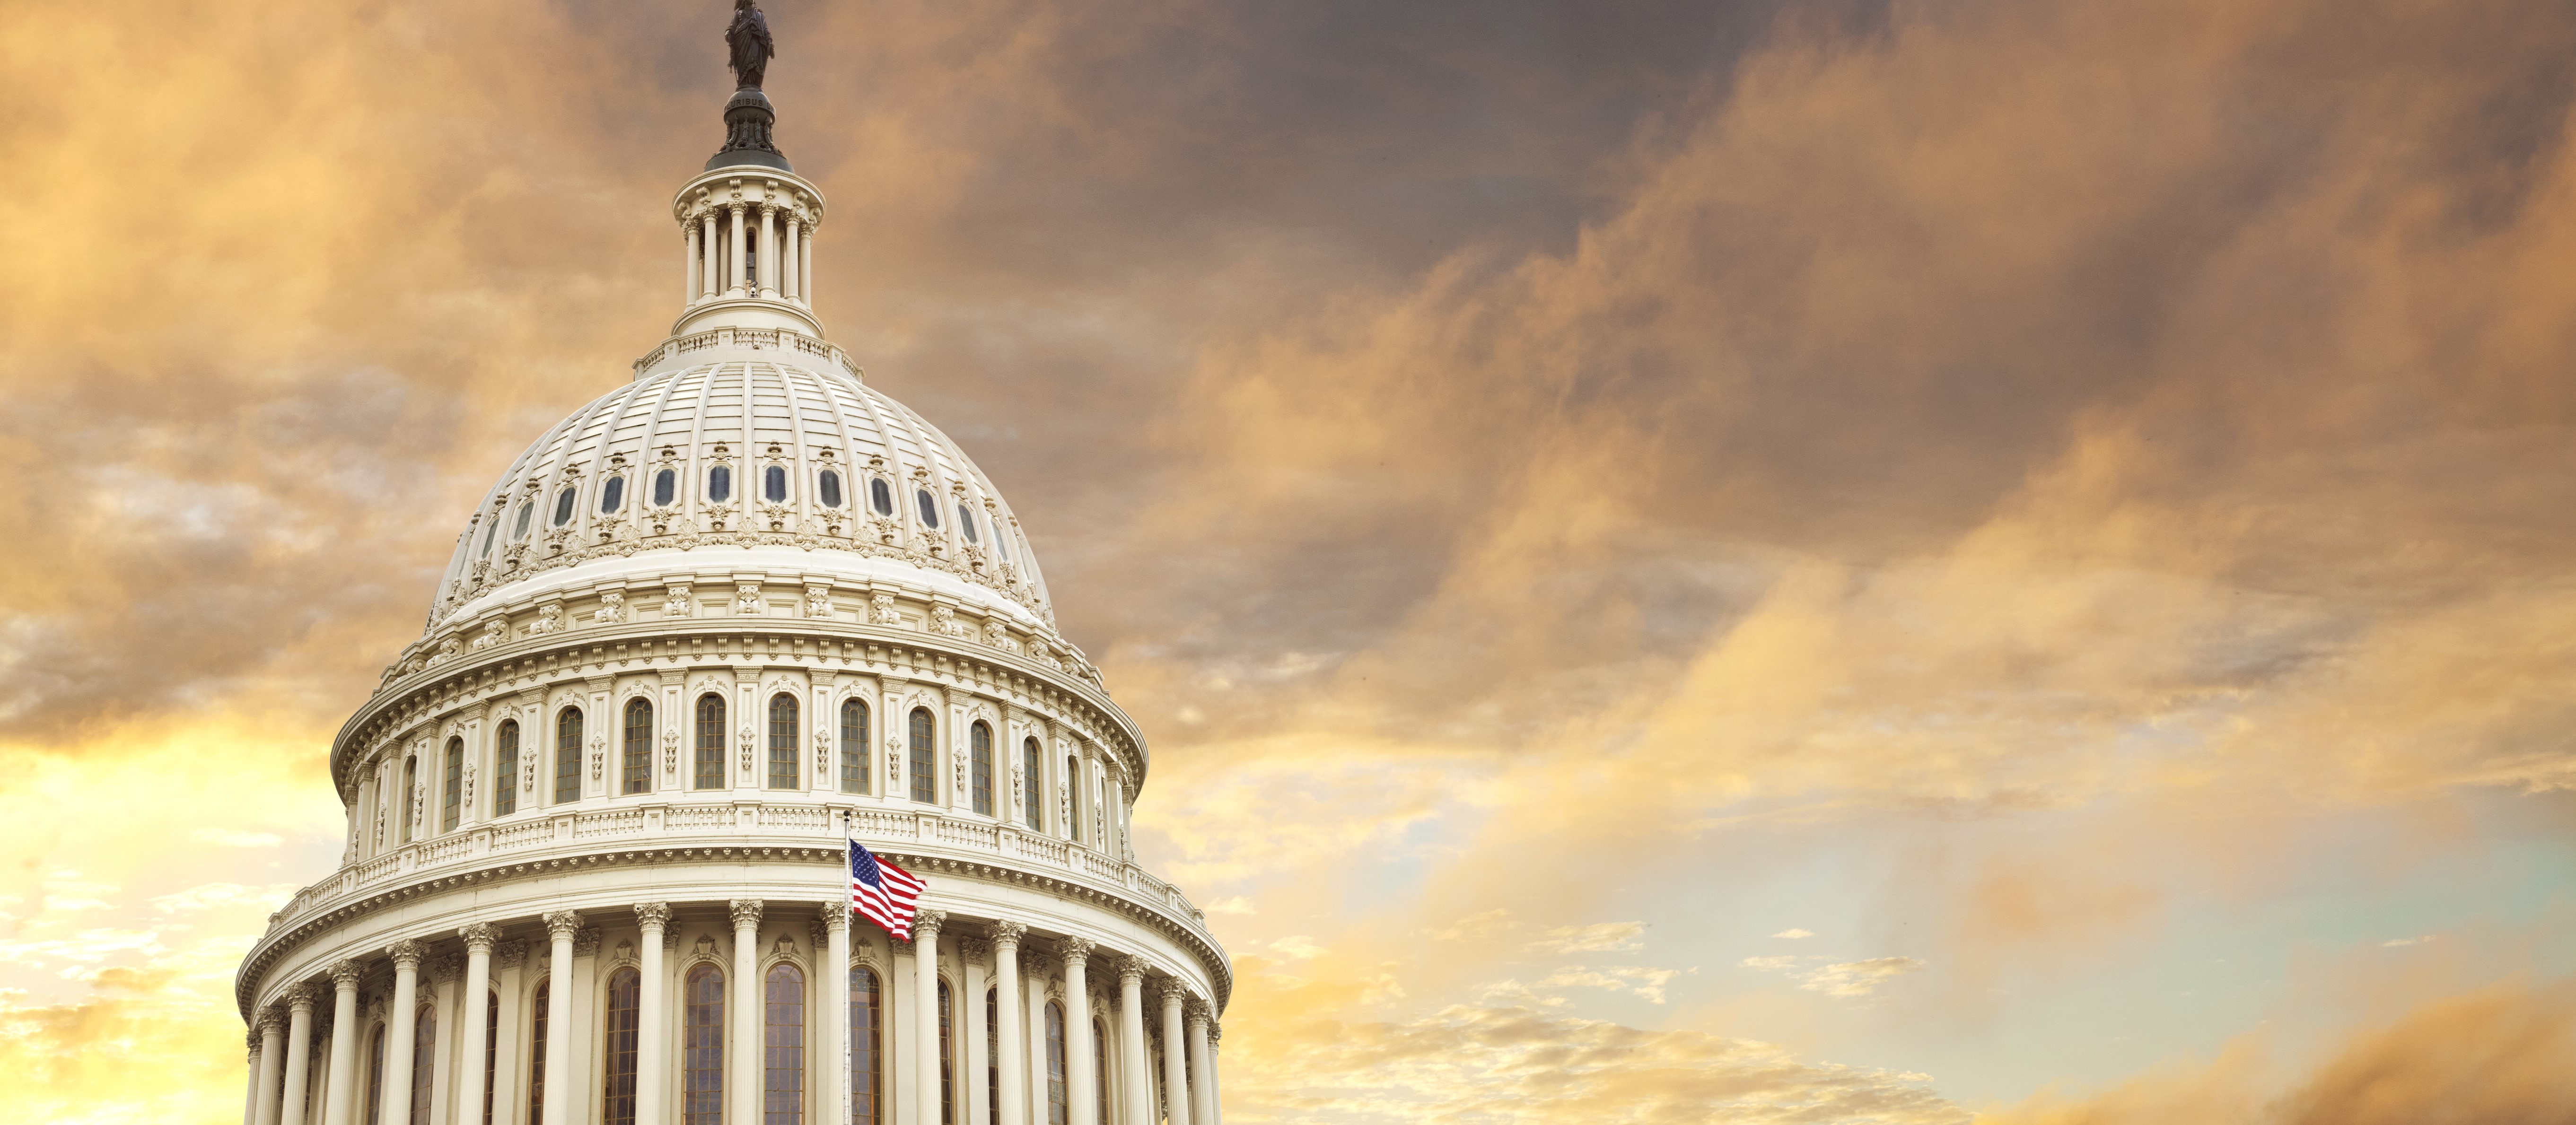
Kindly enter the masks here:
[[1234, 971], [1136, 862], [1144, 731], [824, 335], [750, 0], [729, 41], [670, 337], [464, 512], [332, 739], [340, 865], [234, 976], [245, 1125], [1216, 1125]]

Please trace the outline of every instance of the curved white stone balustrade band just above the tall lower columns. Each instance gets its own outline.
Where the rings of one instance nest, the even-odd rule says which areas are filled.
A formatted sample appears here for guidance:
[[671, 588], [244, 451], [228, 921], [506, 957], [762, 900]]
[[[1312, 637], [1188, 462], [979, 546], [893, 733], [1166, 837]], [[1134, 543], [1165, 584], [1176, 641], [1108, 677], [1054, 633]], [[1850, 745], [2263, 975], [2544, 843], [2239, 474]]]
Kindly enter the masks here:
[[1206, 911], [1193, 906], [1180, 888], [1149, 875], [1144, 868], [1012, 824], [940, 811], [848, 808], [809, 801], [657, 801], [626, 808], [567, 808], [507, 824], [477, 824], [402, 844], [386, 855], [345, 865], [330, 878], [296, 891], [286, 906], [268, 916], [268, 932], [294, 927], [299, 919], [325, 911], [343, 898], [412, 878], [435, 878], [484, 862], [551, 857], [554, 852], [587, 852], [598, 844], [616, 850], [837, 847], [840, 814], [850, 814], [850, 834], [860, 844], [961, 860], [1002, 860], [1015, 868], [1115, 888], [1126, 898], [1144, 901], [1200, 934], [1208, 929]]

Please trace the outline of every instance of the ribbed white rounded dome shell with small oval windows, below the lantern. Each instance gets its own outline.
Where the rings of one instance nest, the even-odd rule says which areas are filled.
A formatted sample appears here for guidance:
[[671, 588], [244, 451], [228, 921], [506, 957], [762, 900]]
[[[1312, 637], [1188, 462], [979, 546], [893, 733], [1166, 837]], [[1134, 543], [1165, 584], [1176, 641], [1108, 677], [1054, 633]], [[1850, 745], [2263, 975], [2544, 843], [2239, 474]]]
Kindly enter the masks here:
[[428, 633], [683, 561], [706, 569], [708, 556], [907, 572], [981, 615], [1054, 633], [1028, 541], [966, 451], [860, 384], [837, 350], [824, 371], [757, 355], [770, 358], [647, 371], [549, 427], [466, 520]]

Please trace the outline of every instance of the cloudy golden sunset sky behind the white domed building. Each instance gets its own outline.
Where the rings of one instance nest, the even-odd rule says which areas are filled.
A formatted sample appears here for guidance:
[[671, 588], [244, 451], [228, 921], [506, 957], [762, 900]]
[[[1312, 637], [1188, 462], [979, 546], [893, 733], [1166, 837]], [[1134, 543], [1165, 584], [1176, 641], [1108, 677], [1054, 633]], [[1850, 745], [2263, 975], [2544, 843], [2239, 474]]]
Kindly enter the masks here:
[[[724, 3], [0, 8], [0, 1089], [219, 1122]], [[770, 0], [1236, 1122], [2576, 1120], [2576, 8]]]

